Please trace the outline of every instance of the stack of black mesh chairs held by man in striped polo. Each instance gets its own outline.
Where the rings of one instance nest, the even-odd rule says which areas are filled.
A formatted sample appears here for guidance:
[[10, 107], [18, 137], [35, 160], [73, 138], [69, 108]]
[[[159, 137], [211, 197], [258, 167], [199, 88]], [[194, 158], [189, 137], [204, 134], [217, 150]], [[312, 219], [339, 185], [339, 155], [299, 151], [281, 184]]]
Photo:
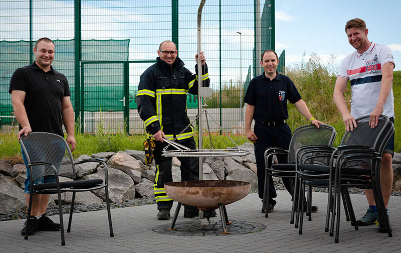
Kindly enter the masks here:
[[[334, 236], [336, 218], [335, 242], [338, 242], [339, 237], [341, 196], [347, 221], [350, 220], [351, 225], [355, 227], [355, 230], [358, 230], [348, 187], [373, 190], [381, 229], [388, 232], [388, 236], [392, 236], [380, 190], [379, 170], [381, 155], [389, 138], [394, 133], [394, 127], [388, 117], [384, 115], [380, 115], [378, 125], [374, 129], [369, 126], [369, 115], [359, 117], [356, 121], [357, 127], [353, 131], [346, 132], [340, 146], [329, 155], [329, 166], [306, 164], [305, 160], [308, 158], [303, 159], [302, 155], [299, 157], [302, 164], [297, 166], [297, 175], [301, 179], [301, 192], [304, 190], [305, 184], [328, 187], [325, 231], [329, 231], [330, 210], [332, 210], [330, 236]], [[326, 157], [328, 157], [327, 154], [328, 152]], [[300, 215], [299, 233], [301, 234], [303, 215]]]

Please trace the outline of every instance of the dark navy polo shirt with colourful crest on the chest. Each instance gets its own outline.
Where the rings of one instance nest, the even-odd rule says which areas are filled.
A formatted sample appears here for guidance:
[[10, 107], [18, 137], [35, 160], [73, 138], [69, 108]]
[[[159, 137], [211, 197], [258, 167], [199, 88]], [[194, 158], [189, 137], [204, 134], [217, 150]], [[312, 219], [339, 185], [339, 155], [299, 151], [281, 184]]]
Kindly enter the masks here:
[[255, 121], [287, 119], [287, 100], [295, 103], [302, 98], [288, 76], [276, 73], [277, 76], [271, 81], [263, 72], [249, 83], [244, 102], [255, 105]]

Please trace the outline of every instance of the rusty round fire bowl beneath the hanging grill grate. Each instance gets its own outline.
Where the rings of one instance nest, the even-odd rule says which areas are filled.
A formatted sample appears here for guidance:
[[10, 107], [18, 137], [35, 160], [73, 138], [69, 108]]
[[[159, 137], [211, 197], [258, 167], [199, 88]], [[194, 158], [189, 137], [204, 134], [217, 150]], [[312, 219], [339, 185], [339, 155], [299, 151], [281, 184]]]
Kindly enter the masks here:
[[167, 195], [179, 203], [196, 206], [203, 211], [219, 208], [246, 197], [251, 184], [231, 180], [202, 180], [165, 183]]

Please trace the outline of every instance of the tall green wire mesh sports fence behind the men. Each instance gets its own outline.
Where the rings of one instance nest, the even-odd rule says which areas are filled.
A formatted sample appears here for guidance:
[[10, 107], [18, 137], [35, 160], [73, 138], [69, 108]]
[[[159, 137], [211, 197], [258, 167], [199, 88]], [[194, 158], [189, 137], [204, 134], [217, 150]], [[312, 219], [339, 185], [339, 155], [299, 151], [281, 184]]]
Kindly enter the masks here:
[[[93, 133], [100, 123], [110, 132], [143, 133], [135, 104], [139, 77], [154, 64], [164, 40], [177, 44], [178, 57], [194, 72], [198, 6], [199, 0], [33, 0], [30, 9], [29, 0], [0, 2], [2, 123], [13, 120], [11, 75], [34, 60], [34, 42], [49, 37], [56, 43], [53, 66], [69, 80], [82, 131]], [[202, 49], [214, 90], [205, 103], [225, 129], [241, 129], [242, 101], [249, 81], [261, 74], [260, 54], [274, 49], [274, 1], [207, 0], [202, 20]], [[196, 96], [188, 95], [187, 108], [195, 117]], [[212, 131], [218, 131], [216, 124]]]

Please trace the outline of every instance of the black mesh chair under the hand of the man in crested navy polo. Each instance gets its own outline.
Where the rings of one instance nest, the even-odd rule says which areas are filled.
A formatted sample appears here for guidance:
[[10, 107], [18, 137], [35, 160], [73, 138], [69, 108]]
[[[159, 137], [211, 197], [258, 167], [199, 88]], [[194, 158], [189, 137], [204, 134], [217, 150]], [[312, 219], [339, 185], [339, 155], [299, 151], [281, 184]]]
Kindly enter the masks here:
[[[295, 178], [295, 160], [296, 160], [296, 152], [305, 145], [316, 145], [318, 147], [332, 147], [334, 143], [334, 139], [336, 136], [336, 132], [331, 125], [320, 124], [320, 128], [316, 128], [315, 125], [307, 124], [300, 126], [297, 128], [291, 138], [291, 142], [287, 150], [272, 147], [265, 151], [265, 186], [263, 193], [263, 205], [262, 212], [265, 212], [265, 216], [268, 217], [268, 212], [266, 211], [266, 207], [269, 205], [269, 187], [270, 180], [269, 176], [282, 177], [282, 178]], [[287, 164], [273, 164], [271, 165], [271, 161], [273, 155], [288, 155], [288, 163]], [[327, 160], [327, 159], [326, 159]], [[316, 163], [323, 163], [325, 161], [315, 161]], [[294, 192], [294, 188], [297, 186], [297, 180], [295, 180], [295, 185], [293, 186], [292, 191]], [[310, 192], [311, 194], [311, 192]], [[294, 196], [295, 192], [294, 192]], [[294, 198], [296, 200], [296, 198]], [[309, 201], [311, 203], [311, 201]], [[310, 204], [308, 205], [308, 213], [310, 215]], [[293, 210], [295, 207], [295, 202], [293, 201]], [[294, 220], [294, 211], [291, 214], [291, 223]]]

